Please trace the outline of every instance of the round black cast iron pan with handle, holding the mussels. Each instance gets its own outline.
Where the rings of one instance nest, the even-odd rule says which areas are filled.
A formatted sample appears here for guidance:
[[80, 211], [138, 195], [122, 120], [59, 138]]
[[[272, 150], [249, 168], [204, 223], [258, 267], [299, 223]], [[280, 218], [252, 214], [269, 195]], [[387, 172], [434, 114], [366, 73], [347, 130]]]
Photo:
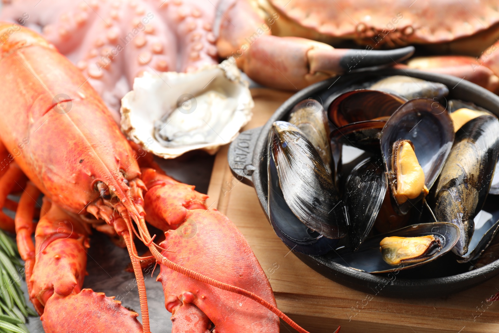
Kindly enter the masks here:
[[[441, 82], [449, 87], [447, 99], [473, 102], [499, 116], [499, 96], [467, 80], [454, 76], [410, 69], [372, 69], [342, 75], [315, 83], [291, 96], [262, 127], [250, 129], [231, 144], [228, 159], [233, 174], [243, 183], [253, 186], [260, 205], [268, 219], [267, 203], [267, 136], [271, 124], [286, 120], [290, 110], [299, 101], [314, 98], [328, 109], [335, 95], [354, 84], [389, 75], [408, 75], [428, 81]], [[445, 296], [478, 285], [499, 274], [499, 260], [473, 269], [472, 264], [456, 262], [452, 254], [420, 269], [399, 271], [397, 274], [374, 275], [359, 272], [331, 260], [334, 253], [309, 256], [293, 251], [301, 261], [323, 276], [344, 286], [371, 294], [399, 298]], [[430, 272], [430, 273], [429, 273]], [[430, 276], [431, 278], [428, 278]]]

